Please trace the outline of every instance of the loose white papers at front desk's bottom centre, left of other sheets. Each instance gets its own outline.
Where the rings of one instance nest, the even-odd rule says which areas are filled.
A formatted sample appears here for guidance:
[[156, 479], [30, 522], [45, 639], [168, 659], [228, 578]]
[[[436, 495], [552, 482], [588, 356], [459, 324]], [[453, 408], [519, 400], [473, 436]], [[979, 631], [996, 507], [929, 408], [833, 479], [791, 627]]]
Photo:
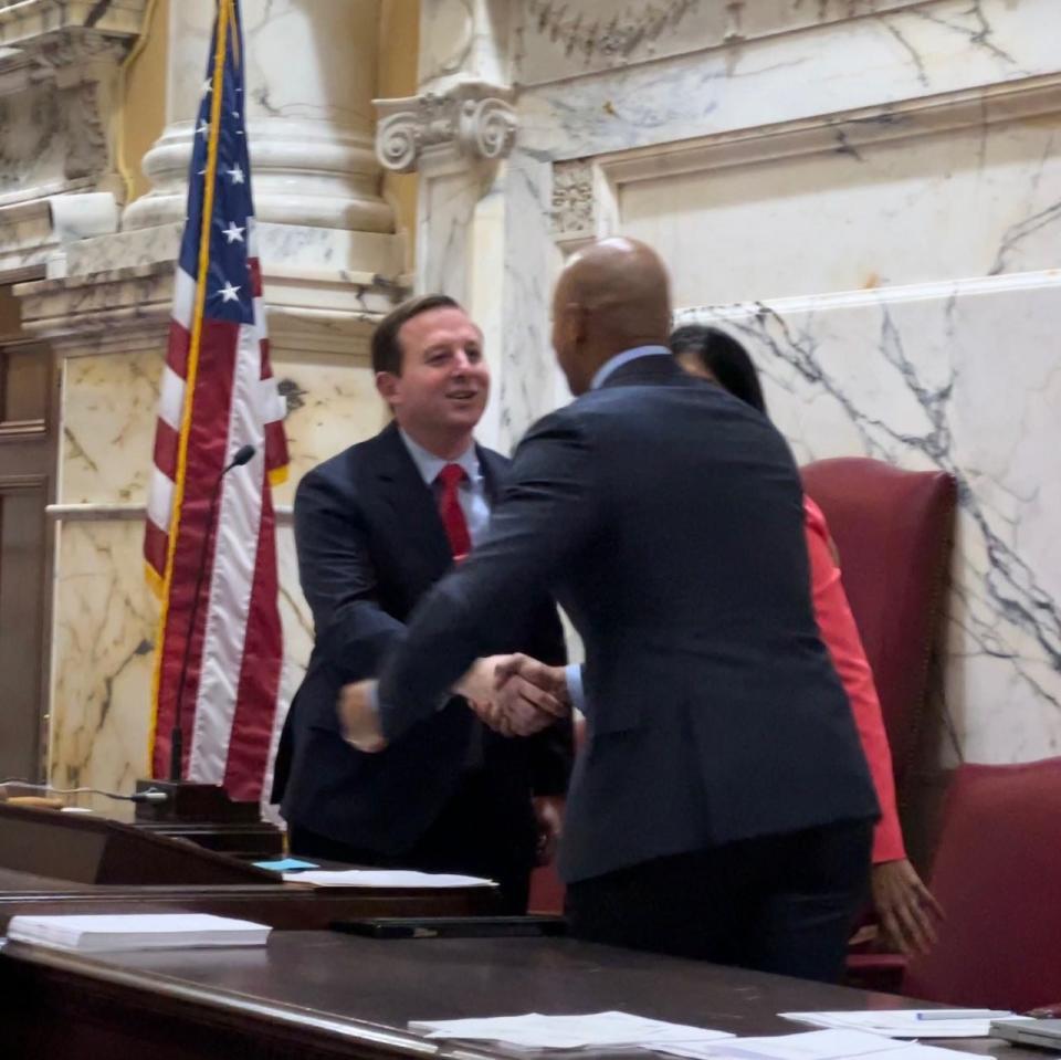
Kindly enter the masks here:
[[409, 1029], [428, 1038], [496, 1041], [516, 1049], [659, 1049], [666, 1042], [704, 1043], [732, 1038], [722, 1030], [684, 1027], [629, 1012], [586, 1016], [497, 1016], [487, 1019], [411, 1021]]

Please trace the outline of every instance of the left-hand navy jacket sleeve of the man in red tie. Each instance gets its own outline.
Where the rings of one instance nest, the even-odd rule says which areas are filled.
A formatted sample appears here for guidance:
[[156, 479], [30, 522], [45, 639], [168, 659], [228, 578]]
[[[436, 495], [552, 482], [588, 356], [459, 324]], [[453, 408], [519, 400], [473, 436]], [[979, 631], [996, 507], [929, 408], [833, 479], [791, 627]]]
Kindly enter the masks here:
[[343, 681], [374, 676], [405, 626], [377, 600], [376, 568], [353, 489], [319, 471], [306, 475], [295, 494], [295, 544], [316, 650]]

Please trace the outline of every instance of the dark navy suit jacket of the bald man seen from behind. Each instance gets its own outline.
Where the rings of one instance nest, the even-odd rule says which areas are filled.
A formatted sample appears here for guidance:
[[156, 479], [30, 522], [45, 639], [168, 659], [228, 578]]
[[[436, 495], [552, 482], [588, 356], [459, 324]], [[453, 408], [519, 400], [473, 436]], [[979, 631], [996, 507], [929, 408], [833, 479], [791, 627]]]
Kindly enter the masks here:
[[668, 357], [629, 363], [527, 434], [487, 538], [385, 668], [385, 732], [546, 580], [587, 654], [566, 879], [875, 816], [801, 502], [764, 417]]

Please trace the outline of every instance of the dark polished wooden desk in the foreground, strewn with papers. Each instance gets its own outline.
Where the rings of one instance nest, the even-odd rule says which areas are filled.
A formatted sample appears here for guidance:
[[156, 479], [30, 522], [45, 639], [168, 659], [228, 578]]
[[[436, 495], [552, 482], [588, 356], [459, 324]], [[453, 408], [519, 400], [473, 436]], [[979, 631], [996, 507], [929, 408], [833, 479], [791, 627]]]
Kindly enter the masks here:
[[[622, 1009], [738, 1035], [792, 1033], [800, 1026], [777, 1012], [913, 1004], [571, 940], [377, 941], [327, 932], [280, 932], [267, 947], [244, 951], [106, 957], [9, 944], [0, 952], [0, 997], [11, 1014], [4, 1030], [22, 1049], [14, 1056], [69, 1060], [497, 1060], [503, 1050], [427, 1041], [405, 1027], [410, 1019]], [[1040, 1060], [991, 1039], [950, 1045]]]

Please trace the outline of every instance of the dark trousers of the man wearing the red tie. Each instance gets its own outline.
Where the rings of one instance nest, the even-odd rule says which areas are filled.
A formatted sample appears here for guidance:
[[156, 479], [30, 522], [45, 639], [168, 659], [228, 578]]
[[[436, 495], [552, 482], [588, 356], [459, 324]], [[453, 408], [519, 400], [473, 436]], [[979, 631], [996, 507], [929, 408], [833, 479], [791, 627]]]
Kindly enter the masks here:
[[512, 805], [498, 797], [484, 773], [465, 776], [423, 836], [400, 853], [356, 847], [295, 822], [288, 823], [287, 841], [291, 852], [303, 858], [486, 877], [497, 881], [505, 913], [527, 911], [536, 844], [529, 798]]

